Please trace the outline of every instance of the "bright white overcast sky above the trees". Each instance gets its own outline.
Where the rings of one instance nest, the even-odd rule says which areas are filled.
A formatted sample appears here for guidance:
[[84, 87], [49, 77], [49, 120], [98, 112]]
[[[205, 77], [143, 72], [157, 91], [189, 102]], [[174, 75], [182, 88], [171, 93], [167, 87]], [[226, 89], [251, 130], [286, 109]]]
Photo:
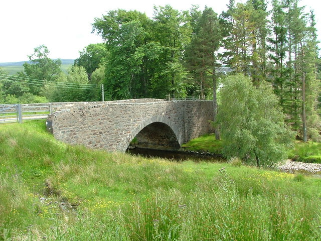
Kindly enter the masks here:
[[[244, 2], [236, 1], [236, 2]], [[220, 14], [229, 0], [10, 0], [0, 2], [0, 63], [27, 61], [40, 45], [48, 47], [49, 57], [76, 59], [87, 45], [102, 43], [92, 33], [91, 24], [110, 10], [137, 10], [152, 17], [153, 6], [171, 5], [189, 10], [192, 5], [212, 7]], [[321, 1], [304, 0], [306, 11], [314, 10], [321, 41]]]

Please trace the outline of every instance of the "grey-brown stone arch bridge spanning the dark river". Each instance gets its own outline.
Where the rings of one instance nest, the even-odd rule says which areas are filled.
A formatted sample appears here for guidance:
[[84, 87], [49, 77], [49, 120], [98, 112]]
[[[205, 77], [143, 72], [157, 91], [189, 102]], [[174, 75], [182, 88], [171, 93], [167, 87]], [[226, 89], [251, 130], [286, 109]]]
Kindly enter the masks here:
[[212, 101], [131, 99], [65, 108], [50, 114], [46, 125], [65, 143], [125, 152], [134, 137], [140, 147], [178, 149], [213, 132], [210, 121]]

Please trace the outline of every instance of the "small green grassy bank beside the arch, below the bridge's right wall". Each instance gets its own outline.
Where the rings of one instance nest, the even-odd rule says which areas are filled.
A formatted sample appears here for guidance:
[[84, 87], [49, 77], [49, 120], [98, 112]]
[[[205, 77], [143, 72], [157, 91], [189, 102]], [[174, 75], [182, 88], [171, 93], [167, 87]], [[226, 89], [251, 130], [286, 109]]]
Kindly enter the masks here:
[[193, 139], [183, 144], [182, 147], [189, 151], [205, 151], [216, 154], [221, 154], [223, 148], [222, 141], [216, 140], [214, 134], [207, 134]]

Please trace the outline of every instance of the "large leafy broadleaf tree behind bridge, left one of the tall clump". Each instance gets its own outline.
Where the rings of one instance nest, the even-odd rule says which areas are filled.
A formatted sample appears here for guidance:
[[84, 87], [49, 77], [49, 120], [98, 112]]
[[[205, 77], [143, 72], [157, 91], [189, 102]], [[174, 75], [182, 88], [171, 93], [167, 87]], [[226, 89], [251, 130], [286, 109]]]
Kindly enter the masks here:
[[106, 99], [150, 96], [154, 60], [161, 53], [151, 40], [151, 20], [137, 11], [110, 11], [95, 19], [94, 30], [106, 41]]

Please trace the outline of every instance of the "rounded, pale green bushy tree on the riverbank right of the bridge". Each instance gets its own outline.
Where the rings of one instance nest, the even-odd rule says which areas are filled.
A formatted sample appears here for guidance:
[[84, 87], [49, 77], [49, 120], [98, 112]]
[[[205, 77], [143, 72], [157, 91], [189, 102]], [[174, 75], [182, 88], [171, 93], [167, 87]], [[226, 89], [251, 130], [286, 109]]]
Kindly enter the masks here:
[[271, 86], [261, 82], [255, 87], [242, 74], [229, 76], [223, 83], [218, 122], [224, 156], [237, 156], [258, 167], [285, 158], [292, 136]]

